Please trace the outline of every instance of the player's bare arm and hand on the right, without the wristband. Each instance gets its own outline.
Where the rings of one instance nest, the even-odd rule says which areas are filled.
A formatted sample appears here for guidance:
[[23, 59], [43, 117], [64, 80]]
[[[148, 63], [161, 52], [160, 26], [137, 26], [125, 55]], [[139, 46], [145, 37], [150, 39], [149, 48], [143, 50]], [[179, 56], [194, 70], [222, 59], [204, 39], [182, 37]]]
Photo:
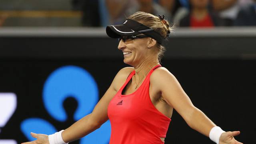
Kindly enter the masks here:
[[[216, 125], [192, 104], [174, 75], [166, 68], [158, 68], [152, 73], [150, 82], [155, 83], [154, 86], [162, 92], [164, 100], [182, 116], [188, 126], [209, 137], [211, 129]], [[233, 137], [238, 134], [239, 131], [222, 133], [219, 144], [242, 144]]]

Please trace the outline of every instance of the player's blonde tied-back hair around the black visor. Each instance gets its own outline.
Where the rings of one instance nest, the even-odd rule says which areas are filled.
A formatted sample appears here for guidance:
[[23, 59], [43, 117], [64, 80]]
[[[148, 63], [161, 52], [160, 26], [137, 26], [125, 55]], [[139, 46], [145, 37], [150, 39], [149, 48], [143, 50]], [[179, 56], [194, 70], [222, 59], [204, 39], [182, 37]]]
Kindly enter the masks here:
[[[128, 17], [129, 19], [136, 20], [137, 22], [140, 22], [144, 24], [145, 26], [148, 26], [149, 28], [152, 28], [154, 31], [161, 34], [161, 36], [166, 39], [168, 31], [172, 32], [174, 26], [170, 26], [170, 23], [168, 20], [166, 22], [162, 22], [158, 16], [154, 16], [153, 14], [149, 14], [146, 12], [135, 12], [131, 16]], [[166, 51], [166, 48], [162, 46], [162, 44], [156, 43], [156, 48], [158, 49], [158, 60], [162, 59], [164, 56], [164, 52]]]

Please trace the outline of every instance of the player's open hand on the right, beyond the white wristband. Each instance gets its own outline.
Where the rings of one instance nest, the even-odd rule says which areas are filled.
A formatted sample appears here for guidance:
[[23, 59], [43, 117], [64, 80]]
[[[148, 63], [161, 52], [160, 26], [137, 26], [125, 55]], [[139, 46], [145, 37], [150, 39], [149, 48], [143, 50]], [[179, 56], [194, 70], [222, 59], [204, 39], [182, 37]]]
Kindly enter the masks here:
[[234, 136], [240, 134], [240, 131], [234, 132], [224, 132], [220, 135], [220, 143], [219, 144], [243, 144], [235, 140]]

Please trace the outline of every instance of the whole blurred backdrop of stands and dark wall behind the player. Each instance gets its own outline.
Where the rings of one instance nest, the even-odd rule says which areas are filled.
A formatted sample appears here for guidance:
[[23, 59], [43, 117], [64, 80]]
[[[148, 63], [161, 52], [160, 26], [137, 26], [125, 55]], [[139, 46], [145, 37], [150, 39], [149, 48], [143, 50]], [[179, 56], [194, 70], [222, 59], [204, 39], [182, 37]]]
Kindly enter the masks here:
[[[105, 29], [137, 11], [176, 26], [161, 64], [193, 104], [255, 144], [256, 0], [0, 0], [0, 144], [92, 112], [128, 65]], [[70, 144], [108, 144], [110, 122]], [[166, 144], [214, 144], [174, 111]]]

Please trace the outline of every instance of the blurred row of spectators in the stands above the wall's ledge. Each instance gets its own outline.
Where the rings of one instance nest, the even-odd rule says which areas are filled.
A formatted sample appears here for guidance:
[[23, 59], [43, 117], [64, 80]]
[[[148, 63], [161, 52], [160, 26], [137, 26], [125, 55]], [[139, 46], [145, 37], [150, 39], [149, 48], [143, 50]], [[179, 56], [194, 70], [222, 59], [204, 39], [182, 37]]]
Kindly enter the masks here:
[[122, 24], [137, 11], [180, 27], [256, 26], [256, 0], [84, 0], [82, 10], [84, 26]]

